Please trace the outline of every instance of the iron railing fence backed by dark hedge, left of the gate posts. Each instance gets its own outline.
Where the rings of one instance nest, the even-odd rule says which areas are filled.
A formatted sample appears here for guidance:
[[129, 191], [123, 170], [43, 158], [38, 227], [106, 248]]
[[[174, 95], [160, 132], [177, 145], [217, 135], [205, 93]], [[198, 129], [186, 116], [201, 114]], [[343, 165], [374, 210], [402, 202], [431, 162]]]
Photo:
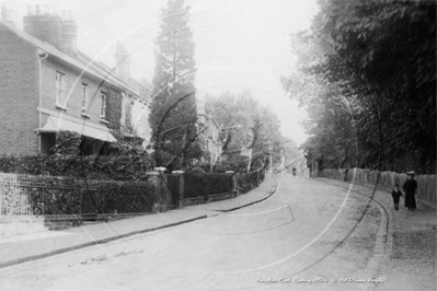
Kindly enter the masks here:
[[147, 182], [0, 173], [0, 216], [151, 212], [156, 201], [156, 190]]

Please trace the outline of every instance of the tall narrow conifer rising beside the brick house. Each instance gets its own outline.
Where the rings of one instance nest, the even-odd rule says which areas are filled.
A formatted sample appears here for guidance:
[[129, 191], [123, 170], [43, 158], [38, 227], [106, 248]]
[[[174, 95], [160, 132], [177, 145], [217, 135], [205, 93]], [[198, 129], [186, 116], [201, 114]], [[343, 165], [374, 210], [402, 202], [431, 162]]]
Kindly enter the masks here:
[[202, 153], [196, 142], [196, 97], [193, 32], [189, 7], [184, 0], [169, 0], [161, 12], [156, 40], [153, 100], [149, 123], [156, 148], [156, 163], [186, 167], [186, 161]]

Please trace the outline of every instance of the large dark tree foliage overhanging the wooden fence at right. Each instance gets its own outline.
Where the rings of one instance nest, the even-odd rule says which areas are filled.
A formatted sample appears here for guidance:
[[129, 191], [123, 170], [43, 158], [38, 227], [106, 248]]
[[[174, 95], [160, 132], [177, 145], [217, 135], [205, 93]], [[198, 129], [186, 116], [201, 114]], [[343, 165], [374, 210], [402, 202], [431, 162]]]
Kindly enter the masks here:
[[322, 166], [434, 173], [436, 2], [320, 1], [292, 37], [285, 90], [309, 110], [304, 146]]

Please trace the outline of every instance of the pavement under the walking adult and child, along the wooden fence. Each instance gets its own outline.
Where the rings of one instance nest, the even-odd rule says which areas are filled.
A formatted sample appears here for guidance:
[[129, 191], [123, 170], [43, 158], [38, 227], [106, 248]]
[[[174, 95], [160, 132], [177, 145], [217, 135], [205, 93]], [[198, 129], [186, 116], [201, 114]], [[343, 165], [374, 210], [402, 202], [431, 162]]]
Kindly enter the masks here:
[[[347, 188], [349, 183], [318, 178], [330, 185]], [[353, 185], [353, 190], [371, 196], [372, 188]], [[391, 193], [377, 190], [375, 200], [382, 203], [389, 214], [388, 244], [379, 268], [386, 281], [375, 290], [437, 290], [436, 273], [436, 210], [417, 203], [409, 211], [401, 197], [400, 209], [393, 207]]]

